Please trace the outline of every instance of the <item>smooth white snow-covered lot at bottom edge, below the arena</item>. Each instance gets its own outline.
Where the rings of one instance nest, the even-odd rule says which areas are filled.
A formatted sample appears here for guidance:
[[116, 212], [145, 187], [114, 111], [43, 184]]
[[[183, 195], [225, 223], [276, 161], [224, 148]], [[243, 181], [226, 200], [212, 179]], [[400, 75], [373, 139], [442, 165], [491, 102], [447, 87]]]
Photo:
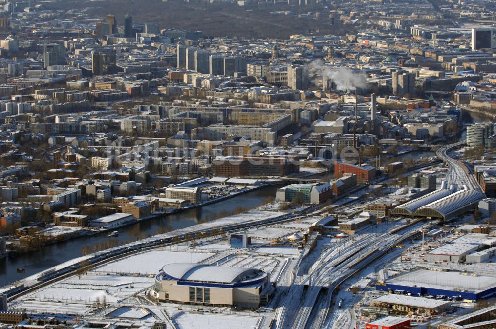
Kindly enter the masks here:
[[260, 318], [256, 317], [207, 313], [183, 313], [175, 320], [179, 325], [178, 329], [250, 329], [258, 328], [258, 323], [260, 322]]

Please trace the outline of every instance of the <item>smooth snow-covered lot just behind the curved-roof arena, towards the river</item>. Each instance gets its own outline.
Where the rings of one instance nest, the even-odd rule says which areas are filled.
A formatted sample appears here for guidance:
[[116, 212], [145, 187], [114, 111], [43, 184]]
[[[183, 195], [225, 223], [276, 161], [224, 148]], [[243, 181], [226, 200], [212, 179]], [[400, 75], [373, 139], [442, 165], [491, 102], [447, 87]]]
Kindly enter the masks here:
[[[187, 248], [185, 246], [185, 248]], [[207, 252], [177, 252], [170, 250], [152, 250], [106, 264], [96, 271], [110, 273], [157, 274], [164, 265], [171, 263], [198, 263], [213, 256]]]

